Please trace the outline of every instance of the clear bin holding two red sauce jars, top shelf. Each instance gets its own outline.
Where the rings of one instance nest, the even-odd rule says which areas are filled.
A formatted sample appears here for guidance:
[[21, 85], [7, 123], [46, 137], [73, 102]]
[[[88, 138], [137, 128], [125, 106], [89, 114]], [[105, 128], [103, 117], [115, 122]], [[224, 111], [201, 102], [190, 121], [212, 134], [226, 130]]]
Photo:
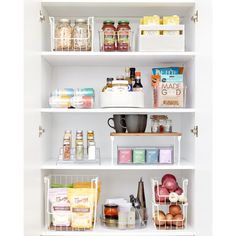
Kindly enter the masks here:
[[119, 20], [114, 26], [113, 20], [105, 20], [100, 31], [101, 51], [131, 51], [132, 31], [128, 20]]

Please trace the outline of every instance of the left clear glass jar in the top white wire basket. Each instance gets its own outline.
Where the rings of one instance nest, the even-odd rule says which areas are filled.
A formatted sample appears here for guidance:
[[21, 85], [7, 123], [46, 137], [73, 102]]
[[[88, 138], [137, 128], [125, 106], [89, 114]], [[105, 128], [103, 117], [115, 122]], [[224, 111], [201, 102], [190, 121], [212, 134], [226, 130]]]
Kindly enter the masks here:
[[55, 30], [55, 50], [72, 49], [72, 27], [69, 19], [60, 19]]

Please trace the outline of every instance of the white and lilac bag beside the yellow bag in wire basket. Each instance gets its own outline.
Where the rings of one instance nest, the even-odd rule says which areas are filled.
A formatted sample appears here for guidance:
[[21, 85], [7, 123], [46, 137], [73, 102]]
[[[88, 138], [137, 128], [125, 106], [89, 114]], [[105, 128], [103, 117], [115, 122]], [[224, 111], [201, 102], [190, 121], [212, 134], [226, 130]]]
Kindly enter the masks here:
[[67, 188], [50, 188], [48, 190], [53, 226], [70, 226], [70, 202]]

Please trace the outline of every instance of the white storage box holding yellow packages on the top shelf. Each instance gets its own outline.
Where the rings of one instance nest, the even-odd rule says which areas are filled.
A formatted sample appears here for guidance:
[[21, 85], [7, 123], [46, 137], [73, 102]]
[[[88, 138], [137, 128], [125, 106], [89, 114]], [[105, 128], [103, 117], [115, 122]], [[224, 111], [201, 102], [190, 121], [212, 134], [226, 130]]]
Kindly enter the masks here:
[[[142, 31], [146, 31], [147, 34], [142, 34]], [[168, 31], [170, 34], [158, 34], [157, 32], [160, 31]], [[179, 34], [176, 31], [179, 31]], [[148, 32], [150, 32], [150, 34]], [[184, 51], [184, 25], [140, 25], [138, 34], [138, 50], [140, 52]]]

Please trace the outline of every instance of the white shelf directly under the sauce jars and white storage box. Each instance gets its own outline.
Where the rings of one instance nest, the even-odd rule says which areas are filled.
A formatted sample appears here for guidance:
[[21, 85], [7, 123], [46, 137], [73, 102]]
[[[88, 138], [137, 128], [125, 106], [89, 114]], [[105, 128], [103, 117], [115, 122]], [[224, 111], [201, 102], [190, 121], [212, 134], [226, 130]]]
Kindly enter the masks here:
[[42, 52], [52, 66], [155, 66], [157, 63], [183, 63], [195, 52]]

